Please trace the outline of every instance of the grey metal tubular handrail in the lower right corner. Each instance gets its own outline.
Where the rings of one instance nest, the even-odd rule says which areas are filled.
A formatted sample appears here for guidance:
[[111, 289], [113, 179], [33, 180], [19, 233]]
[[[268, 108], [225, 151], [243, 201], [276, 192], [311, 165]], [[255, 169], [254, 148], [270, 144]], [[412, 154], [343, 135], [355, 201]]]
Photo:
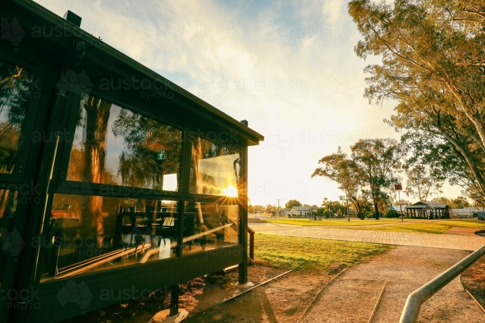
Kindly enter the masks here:
[[420, 314], [421, 305], [431, 298], [436, 292], [445, 287], [455, 277], [460, 275], [465, 269], [479, 260], [485, 254], [485, 245], [475, 250], [469, 256], [458, 261], [450, 269], [436, 276], [426, 284], [422, 285], [416, 291], [407, 296], [404, 305], [403, 314], [399, 323], [416, 323]]

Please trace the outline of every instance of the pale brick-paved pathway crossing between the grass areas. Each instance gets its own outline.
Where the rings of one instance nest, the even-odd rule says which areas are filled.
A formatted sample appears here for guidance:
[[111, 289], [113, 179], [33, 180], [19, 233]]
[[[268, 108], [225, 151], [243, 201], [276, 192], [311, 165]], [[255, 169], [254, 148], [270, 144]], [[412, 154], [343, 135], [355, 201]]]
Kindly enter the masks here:
[[[250, 225], [250, 227], [254, 229], [253, 226]], [[457, 250], [476, 250], [485, 245], [485, 237], [470, 235], [350, 230], [326, 228], [321, 226], [306, 226], [293, 230], [288, 230], [288, 228], [286, 229], [287, 230], [274, 231], [265, 230], [262, 233], [302, 238], [370, 242], [399, 246], [422, 246]]]

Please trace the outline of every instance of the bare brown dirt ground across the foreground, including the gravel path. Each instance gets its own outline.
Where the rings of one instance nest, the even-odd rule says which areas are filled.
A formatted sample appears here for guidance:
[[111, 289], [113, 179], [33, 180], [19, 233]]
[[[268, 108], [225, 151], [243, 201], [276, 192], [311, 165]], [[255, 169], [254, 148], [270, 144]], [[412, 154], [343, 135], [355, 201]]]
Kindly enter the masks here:
[[[340, 267], [331, 272], [293, 271], [184, 322], [366, 323], [387, 281], [374, 323], [395, 323], [399, 322], [410, 292], [468, 254], [461, 250], [398, 246], [343, 273]], [[258, 285], [284, 272], [252, 266], [248, 268], [248, 281]], [[193, 279], [181, 285], [179, 307], [189, 313], [202, 312], [248, 288], [239, 287], [237, 281], [237, 271]], [[463, 273], [461, 282], [485, 302], [485, 257]], [[461, 282], [457, 277], [423, 304], [418, 322], [485, 322], [484, 312]], [[150, 323], [157, 312], [168, 306], [168, 298], [162, 304], [130, 300], [64, 322]]]

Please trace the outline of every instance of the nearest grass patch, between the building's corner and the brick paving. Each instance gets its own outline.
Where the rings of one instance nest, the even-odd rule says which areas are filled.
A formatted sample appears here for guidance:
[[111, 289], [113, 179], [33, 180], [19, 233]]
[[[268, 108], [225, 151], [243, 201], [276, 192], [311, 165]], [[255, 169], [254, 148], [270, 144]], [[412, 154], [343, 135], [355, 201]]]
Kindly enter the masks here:
[[330, 270], [351, 266], [392, 247], [256, 233], [254, 257], [257, 263], [275, 268]]

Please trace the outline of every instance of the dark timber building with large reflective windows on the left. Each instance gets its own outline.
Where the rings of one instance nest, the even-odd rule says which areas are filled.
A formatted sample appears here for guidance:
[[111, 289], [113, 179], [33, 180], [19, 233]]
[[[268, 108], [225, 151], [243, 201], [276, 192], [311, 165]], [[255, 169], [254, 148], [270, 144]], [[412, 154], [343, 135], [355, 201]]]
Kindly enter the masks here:
[[247, 148], [263, 136], [81, 17], [30, 0], [0, 15], [0, 323], [177, 293], [237, 264], [245, 283]]

